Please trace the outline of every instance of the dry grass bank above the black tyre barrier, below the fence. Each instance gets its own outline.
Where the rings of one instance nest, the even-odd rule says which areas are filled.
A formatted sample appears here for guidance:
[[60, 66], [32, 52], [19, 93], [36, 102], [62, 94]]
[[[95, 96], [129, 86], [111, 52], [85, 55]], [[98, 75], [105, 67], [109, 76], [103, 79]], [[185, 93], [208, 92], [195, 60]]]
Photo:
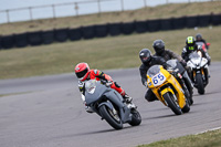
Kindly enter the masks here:
[[0, 24], [0, 35], [11, 33], [22, 33], [39, 30], [53, 30], [59, 28], [77, 28], [81, 25], [104, 24], [113, 22], [130, 22], [135, 20], [150, 20], [162, 18], [178, 18], [183, 15], [210, 14], [221, 12], [221, 1], [192, 2], [192, 3], [169, 3], [158, 7], [147, 7], [144, 9], [105, 12], [98, 14], [87, 14], [81, 17], [43, 19], [28, 22], [17, 22]]

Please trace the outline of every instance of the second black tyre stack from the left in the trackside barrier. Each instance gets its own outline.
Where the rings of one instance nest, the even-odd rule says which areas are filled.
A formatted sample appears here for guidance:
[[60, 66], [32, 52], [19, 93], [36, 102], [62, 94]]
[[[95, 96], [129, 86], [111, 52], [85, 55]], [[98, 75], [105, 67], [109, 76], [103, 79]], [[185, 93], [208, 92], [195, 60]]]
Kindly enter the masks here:
[[14, 34], [14, 42], [17, 48], [24, 48], [29, 45], [27, 33]]

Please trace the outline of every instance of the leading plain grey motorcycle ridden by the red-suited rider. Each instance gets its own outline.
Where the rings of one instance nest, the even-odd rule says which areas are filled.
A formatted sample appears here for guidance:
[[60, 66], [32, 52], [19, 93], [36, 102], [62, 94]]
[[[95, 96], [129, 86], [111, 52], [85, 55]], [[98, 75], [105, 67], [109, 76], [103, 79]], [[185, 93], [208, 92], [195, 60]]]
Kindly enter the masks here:
[[105, 81], [90, 80], [85, 82], [85, 102], [102, 119], [113, 128], [122, 129], [123, 124], [138, 126], [141, 116], [134, 104], [126, 104], [122, 95], [108, 86]]

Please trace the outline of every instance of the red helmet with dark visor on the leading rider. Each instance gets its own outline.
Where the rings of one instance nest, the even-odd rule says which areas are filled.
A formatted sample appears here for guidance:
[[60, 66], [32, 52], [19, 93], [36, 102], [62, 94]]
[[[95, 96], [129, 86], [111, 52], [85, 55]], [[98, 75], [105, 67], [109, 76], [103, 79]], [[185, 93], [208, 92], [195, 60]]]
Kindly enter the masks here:
[[80, 81], [85, 81], [90, 74], [90, 66], [87, 63], [78, 63], [75, 66], [75, 74]]

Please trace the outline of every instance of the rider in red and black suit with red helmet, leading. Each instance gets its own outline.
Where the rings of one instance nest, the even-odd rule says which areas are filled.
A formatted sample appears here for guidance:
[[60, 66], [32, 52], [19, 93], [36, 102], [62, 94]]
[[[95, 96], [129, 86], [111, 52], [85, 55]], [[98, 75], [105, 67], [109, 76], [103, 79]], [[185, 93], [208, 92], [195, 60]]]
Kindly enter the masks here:
[[[99, 70], [90, 70], [90, 66], [87, 63], [78, 63], [75, 66], [75, 74], [78, 78], [78, 88], [80, 92], [82, 93], [82, 101], [85, 103], [85, 81], [87, 80], [96, 80], [96, 81], [102, 81], [104, 84], [108, 84], [110, 86], [110, 88], [114, 88], [115, 91], [117, 91], [123, 98], [125, 99], [126, 103], [131, 103], [131, 97], [128, 96], [125, 91], [116, 83], [112, 80], [112, 77], [107, 74], [104, 74], [104, 72], [101, 72]], [[92, 109], [86, 106], [86, 112], [92, 113]]]

